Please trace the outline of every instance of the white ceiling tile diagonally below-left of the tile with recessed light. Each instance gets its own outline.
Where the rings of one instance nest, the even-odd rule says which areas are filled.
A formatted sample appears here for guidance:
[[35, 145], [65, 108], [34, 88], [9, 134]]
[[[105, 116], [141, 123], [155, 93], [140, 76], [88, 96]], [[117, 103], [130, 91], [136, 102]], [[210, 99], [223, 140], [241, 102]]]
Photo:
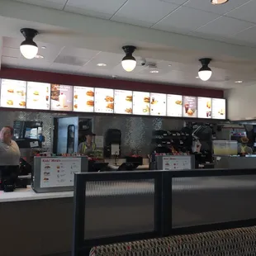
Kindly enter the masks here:
[[205, 25], [209, 21], [220, 17], [216, 13], [203, 12], [190, 7], [179, 7], [153, 26], [155, 29], [163, 29], [164, 27], [176, 27], [187, 31], [194, 31], [198, 27]]

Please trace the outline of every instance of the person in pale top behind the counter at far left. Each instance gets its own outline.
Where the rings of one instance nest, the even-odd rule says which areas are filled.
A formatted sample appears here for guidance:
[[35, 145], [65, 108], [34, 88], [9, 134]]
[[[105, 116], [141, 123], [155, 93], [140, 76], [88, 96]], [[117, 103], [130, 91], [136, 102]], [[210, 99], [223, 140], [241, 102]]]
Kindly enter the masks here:
[[0, 131], [0, 165], [20, 165], [21, 152], [17, 143], [12, 140], [13, 128], [5, 126]]

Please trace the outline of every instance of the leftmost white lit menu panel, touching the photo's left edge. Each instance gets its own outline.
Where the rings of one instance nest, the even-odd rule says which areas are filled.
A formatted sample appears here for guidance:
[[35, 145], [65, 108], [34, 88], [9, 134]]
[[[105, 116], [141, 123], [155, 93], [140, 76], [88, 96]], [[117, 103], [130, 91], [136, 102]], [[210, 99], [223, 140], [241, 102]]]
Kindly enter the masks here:
[[26, 108], [26, 82], [2, 79], [1, 107]]

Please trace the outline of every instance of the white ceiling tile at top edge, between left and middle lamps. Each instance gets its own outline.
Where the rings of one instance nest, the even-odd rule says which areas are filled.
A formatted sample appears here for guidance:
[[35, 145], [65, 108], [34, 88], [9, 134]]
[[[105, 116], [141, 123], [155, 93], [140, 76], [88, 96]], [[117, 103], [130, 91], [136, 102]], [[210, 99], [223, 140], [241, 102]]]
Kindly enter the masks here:
[[[82, 14], [89, 16], [108, 15], [111, 17], [127, 0], [69, 0], [64, 10], [72, 11], [71, 7], [83, 9]], [[73, 9], [75, 11], [75, 9]], [[72, 11], [72, 12], [73, 12]]]

